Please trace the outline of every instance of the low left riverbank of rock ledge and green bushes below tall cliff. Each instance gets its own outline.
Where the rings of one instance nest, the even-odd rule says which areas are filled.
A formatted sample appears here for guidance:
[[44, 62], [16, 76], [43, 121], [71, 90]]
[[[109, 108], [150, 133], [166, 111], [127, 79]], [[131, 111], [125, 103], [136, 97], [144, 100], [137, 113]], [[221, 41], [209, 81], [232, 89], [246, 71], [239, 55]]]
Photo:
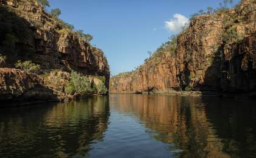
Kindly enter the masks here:
[[[86, 84], [82, 84], [81, 78]], [[98, 77], [84, 77], [74, 72], [53, 70], [37, 75], [19, 69], [0, 68], [0, 107], [66, 102], [91, 95], [105, 95], [107, 89], [103, 91], [102, 85], [104, 82]]]

